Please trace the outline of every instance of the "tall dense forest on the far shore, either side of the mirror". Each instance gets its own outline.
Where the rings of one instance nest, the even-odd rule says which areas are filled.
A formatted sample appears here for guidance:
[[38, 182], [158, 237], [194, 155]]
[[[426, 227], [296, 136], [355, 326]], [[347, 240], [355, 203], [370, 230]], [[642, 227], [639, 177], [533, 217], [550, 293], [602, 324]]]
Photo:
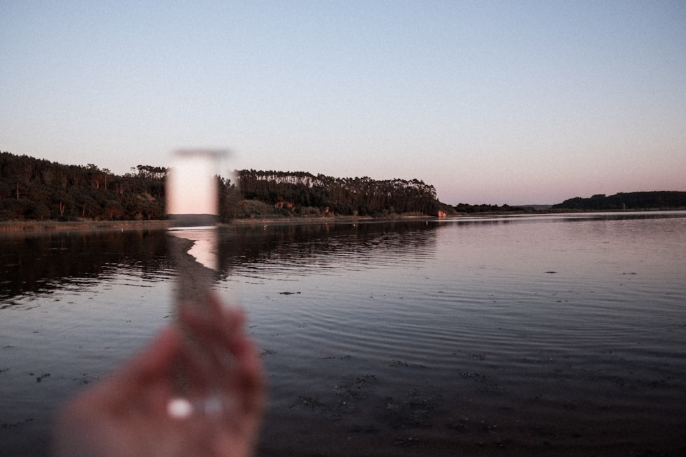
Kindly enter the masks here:
[[[165, 219], [161, 166], [138, 165], [115, 175], [95, 164], [64, 165], [0, 152], [0, 220]], [[220, 217], [451, 214], [434, 186], [419, 180], [339, 178], [305, 172], [237, 172], [220, 177]]]

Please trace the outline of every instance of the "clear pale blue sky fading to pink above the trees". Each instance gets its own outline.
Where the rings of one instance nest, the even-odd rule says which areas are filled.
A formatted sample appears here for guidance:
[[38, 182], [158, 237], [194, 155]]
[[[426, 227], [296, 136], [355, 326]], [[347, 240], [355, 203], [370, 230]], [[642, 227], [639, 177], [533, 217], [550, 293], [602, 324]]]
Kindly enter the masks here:
[[686, 2], [0, 0], [1, 151], [196, 147], [452, 205], [686, 190]]

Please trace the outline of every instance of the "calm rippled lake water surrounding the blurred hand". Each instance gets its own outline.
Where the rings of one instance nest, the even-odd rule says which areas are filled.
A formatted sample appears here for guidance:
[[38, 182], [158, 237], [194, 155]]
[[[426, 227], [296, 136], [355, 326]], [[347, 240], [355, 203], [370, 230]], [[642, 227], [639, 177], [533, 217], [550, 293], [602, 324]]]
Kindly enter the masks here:
[[[0, 455], [172, 319], [163, 231], [0, 236]], [[261, 456], [686, 455], [686, 212], [240, 225]]]

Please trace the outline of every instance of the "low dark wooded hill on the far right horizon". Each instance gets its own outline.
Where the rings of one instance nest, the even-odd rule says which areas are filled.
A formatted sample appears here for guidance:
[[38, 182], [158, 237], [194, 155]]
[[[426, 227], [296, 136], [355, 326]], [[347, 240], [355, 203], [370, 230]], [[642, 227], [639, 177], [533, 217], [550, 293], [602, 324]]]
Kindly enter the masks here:
[[652, 210], [686, 208], [686, 192], [629, 192], [576, 197], [552, 206], [558, 210]]

